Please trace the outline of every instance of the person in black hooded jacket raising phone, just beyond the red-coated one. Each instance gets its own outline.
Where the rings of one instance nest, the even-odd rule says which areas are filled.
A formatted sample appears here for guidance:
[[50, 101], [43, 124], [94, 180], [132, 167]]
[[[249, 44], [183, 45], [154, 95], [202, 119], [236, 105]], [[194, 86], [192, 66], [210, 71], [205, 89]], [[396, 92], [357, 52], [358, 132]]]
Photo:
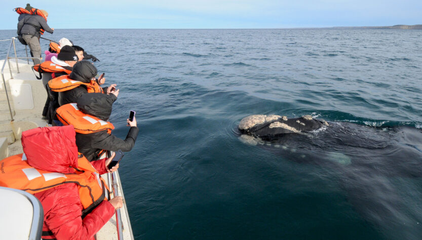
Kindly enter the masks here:
[[57, 108], [57, 118], [63, 125], [74, 126], [78, 151], [90, 162], [99, 159], [103, 150], [130, 151], [135, 145], [139, 132], [135, 117], [132, 122], [127, 119], [130, 129], [125, 140], [112, 135], [114, 126], [106, 122], [116, 99], [114, 94], [86, 93], [76, 104], [70, 103]]

